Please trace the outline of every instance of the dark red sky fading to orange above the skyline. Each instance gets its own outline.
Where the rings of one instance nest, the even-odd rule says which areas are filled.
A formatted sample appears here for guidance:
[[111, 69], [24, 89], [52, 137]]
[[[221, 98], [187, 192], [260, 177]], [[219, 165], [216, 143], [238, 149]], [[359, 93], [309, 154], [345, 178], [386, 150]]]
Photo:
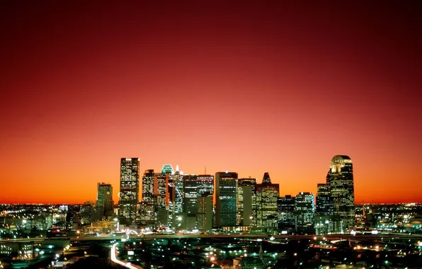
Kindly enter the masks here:
[[118, 200], [125, 156], [315, 193], [336, 154], [422, 202], [418, 1], [151, 2], [1, 3], [0, 202]]

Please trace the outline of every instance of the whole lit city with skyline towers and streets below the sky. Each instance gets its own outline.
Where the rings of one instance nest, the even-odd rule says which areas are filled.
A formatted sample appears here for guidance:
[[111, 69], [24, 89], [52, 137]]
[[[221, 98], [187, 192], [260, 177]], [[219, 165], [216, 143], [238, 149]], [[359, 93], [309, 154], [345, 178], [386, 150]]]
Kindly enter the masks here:
[[[422, 205], [355, 205], [353, 164], [348, 156], [333, 156], [326, 183], [317, 185], [316, 199], [309, 192], [280, 197], [279, 185], [271, 182], [269, 173], [257, 183], [256, 178], [239, 178], [234, 172], [192, 175], [164, 164], [158, 173], [149, 169], [141, 175], [139, 158], [120, 160], [117, 206], [110, 184], [98, 183], [97, 187], [96, 202], [84, 205], [0, 205], [0, 268], [29, 263], [38, 268], [43, 261], [54, 267], [73, 264], [79, 268], [91, 254], [101, 258], [101, 253], [106, 253], [103, 258], [107, 260], [115, 254], [113, 248], [113, 253], [110, 248], [92, 249], [92, 244], [102, 244], [96, 241], [102, 238], [113, 239], [114, 246], [120, 242], [118, 247], [125, 250], [118, 257], [144, 268], [327, 268], [346, 264], [348, 268], [400, 268], [397, 264], [405, 259], [407, 265], [416, 263], [411, 254], [421, 256], [420, 236], [406, 238], [406, 244], [399, 236], [422, 234]], [[125, 234], [144, 237], [120, 241]], [[215, 238], [159, 239], [193, 234]], [[224, 234], [261, 234], [268, 239], [219, 238]], [[309, 234], [317, 237], [300, 237]], [[324, 237], [336, 234], [355, 235], [356, 239]], [[372, 237], [358, 239], [365, 234]], [[273, 235], [285, 235], [285, 241]], [[299, 237], [287, 240], [290, 235]], [[383, 235], [397, 237], [383, 239]], [[55, 238], [67, 241], [49, 241]], [[362, 256], [362, 251], [373, 254]], [[380, 251], [387, 255], [381, 257]], [[70, 262], [72, 258], [79, 262]], [[103, 263], [100, 259], [98, 268]]]

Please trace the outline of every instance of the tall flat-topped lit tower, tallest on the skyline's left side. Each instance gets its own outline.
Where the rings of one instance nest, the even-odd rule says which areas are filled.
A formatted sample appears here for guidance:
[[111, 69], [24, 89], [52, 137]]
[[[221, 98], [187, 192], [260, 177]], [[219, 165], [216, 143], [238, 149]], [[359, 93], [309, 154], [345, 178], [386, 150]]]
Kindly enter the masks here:
[[139, 158], [120, 159], [119, 216], [135, 221], [139, 202]]

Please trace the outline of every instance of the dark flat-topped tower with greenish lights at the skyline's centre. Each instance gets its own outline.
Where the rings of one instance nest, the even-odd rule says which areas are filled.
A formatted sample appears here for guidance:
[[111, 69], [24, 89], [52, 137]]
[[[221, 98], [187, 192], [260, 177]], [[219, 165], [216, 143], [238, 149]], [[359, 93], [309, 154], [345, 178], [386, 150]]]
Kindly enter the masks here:
[[237, 173], [217, 172], [215, 174], [215, 225], [236, 226]]

